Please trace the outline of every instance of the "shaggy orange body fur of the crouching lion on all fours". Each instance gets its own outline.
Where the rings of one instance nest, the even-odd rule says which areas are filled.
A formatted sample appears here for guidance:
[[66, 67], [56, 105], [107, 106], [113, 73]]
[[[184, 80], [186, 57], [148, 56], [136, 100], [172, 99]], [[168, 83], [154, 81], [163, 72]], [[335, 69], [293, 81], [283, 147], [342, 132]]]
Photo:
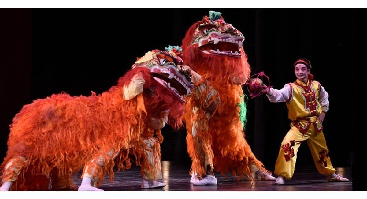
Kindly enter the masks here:
[[[144, 88], [148, 89], [131, 100], [124, 100], [123, 86], [138, 73], [146, 80]], [[103, 158], [101, 154], [118, 156], [115, 161], [106, 157], [106, 166], [98, 172], [98, 186], [102, 185], [106, 173], [113, 180], [115, 162], [119, 169], [130, 167], [129, 153], [134, 153], [139, 164], [143, 156], [141, 146], [144, 146], [141, 137], [148, 132], [145, 125], [153, 114], [175, 101], [163, 89], [153, 94], [152, 86], [159, 90], [149, 69], [133, 69], [120, 78], [117, 86], [100, 95], [71, 97], [61, 93], [23, 106], [10, 125], [7, 156], [0, 166], [1, 182], [14, 177], [5, 175], [4, 171], [7, 163], [18, 157], [24, 160], [23, 164], [7, 171], [20, 173], [11, 187], [13, 191], [47, 190], [50, 178], [53, 188], [58, 183], [63, 188], [76, 187], [72, 175], [76, 177], [93, 158]], [[155, 107], [151, 107], [152, 103]]]

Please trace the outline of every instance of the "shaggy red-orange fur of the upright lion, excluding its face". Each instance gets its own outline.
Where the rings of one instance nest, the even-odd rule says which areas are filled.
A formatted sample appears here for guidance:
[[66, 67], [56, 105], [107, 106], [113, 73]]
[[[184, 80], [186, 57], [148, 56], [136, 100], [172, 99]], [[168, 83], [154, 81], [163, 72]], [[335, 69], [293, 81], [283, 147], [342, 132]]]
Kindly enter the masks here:
[[203, 19], [195, 23], [186, 33], [182, 41], [183, 61], [211, 83], [219, 94], [220, 104], [208, 115], [203, 98], [188, 97], [184, 117], [188, 153], [192, 158], [190, 172], [201, 176], [210, 165], [223, 175], [231, 172], [239, 179], [245, 176], [253, 179], [251, 168], [268, 171], [252, 153], [240, 119], [243, 112], [240, 104], [244, 101], [242, 85], [250, 77], [247, 56], [242, 48], [240, 58], [204, 54], [192, 39], [197, 27], [204, 22]]

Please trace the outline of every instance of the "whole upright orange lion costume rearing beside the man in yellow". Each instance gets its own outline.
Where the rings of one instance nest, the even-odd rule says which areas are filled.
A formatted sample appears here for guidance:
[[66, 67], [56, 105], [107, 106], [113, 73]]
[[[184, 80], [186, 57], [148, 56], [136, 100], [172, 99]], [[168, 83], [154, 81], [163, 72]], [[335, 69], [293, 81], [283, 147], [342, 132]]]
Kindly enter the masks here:
[[[243, 50], [241, 32], [226, 23], [220, 12], [193, 24], [182, 40], [183, 61], [218, 91], [220, 103], [203, 102], [203, 97], [189, 96], [185, 105], [186, 141], [192, 159], [194, 185], [214, 185], [212, 170], [221, 174], [275, 180], [252, 153], [244, 138], [243, 84], [250, 77], [250, 65]], [[206, 93], [202, 93], [206, 95]], [[240, 118], [241, 117], [241, 118]], [[195, 177], [195, 173], [198, 175]], [[206, 178], [197, 177], [206, 174]]]

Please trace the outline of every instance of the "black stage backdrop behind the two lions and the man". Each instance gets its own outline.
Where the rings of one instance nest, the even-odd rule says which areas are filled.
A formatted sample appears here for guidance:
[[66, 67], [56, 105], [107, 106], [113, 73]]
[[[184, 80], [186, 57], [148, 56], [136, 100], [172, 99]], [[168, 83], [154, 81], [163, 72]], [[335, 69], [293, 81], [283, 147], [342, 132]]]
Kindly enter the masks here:
[[[331, 160], [334, 167], [352, 166], [356, 99], [349, 83], [357, 18], [366, 10], [341, 8], [0, 9], [0, 162], [9, 124], [23, 105], [62, 91], [73, 96], [108, 90], [136, 57], [181, 45], [190, 25], [210, 10], [222, 12], [243, 33], [252, 74], [265, 71], [275, 88], [295, 80], [295, 59], [310, 59], [311, 72], [330, 95], [324, 134]], [[249, 144], [273, 168], [289, 129], [286, 105], [248, 100], [247, 118]], [[163, 134], [162, 160], [189, 163], [185, 131], [165, 127]], [[304, 143], [297, 166], [312, 164]]]

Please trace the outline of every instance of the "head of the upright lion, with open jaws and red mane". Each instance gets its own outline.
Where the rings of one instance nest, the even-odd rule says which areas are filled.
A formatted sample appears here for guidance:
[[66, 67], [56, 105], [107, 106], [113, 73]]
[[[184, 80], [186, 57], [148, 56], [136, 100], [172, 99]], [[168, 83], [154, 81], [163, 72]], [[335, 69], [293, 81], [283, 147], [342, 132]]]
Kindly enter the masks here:
[[194, 23], [182, 40], [183, 61], [201, 76], [215, 82], [244, 84], [250, 65], [243, 49], [244, 37], [220, 12]]

